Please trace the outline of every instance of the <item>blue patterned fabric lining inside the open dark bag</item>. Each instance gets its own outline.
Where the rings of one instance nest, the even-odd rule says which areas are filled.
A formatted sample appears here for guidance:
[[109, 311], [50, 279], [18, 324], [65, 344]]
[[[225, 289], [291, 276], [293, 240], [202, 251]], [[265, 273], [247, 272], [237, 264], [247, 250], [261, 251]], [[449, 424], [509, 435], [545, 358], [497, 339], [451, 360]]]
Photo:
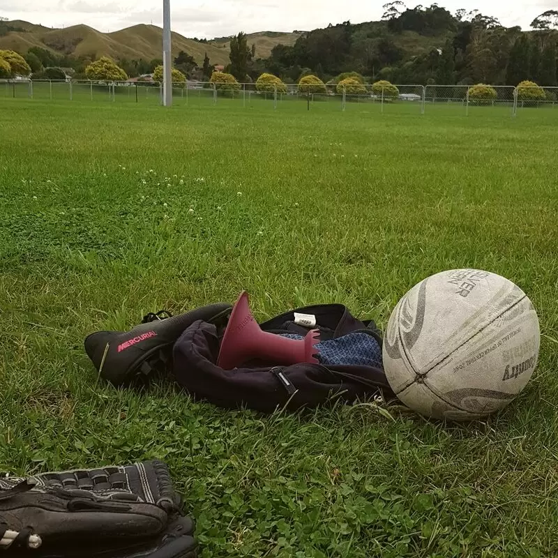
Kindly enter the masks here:
[[[289, 339], [303, 339], [302, 335], [282, 333]], [[368, 333], [349, 333], [337, 339], [322, 341], [316, 345], [319, 361], [324, 365], [361, 365], [382, 368], [382, 349], [377, 340]]]

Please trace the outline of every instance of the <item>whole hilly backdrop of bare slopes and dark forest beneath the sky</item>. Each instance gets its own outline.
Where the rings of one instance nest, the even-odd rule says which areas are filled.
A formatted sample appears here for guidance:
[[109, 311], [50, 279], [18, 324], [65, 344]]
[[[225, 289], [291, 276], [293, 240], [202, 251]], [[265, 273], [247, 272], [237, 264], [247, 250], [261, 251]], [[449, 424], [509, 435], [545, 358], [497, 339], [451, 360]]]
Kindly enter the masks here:
[[[397, 84], [515, 86], [532, 80], [555, 86], [558, 10], [536, 15], [531, 28], [504, 27], [478, 10], [451, 13], [437, 4], [407, 8], [398, 0], [384, 5], [378, 22], [347, 21], [308, 32], [239, 33], [215, 40], [186, 39], [173, 33], [173, 55], [179, 70], [198, 80], [208, 78], [209, 67], [221, 64], [241, 82], [255, 81], [262, 73], [272, 73], [287, 83], [310, 74], [328, 82], [342, 73], [356, 72], [371, 82]], [[141, 40], [135, 40], [138, 33]], [[248, 46], [240, 61], [239, 39]], [[52, 30], [27, 22], [0, 21], [0, 49], [10, 45], [24, 55], [33, 72], [41, 66], [61, 66], [83, 77], [91, 61], [108, 55], [135, 77], [153, 72], [161, 63], [160, 28], [153, 26], [135, 26], [106, 36], [74, 26], [53, 35]]]

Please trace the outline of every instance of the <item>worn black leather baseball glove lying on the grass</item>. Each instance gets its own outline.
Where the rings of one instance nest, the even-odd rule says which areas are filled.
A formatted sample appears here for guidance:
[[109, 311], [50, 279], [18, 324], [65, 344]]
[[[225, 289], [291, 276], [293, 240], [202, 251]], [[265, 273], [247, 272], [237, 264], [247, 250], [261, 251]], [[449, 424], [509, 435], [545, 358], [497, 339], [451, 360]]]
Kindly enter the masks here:
[[0, 554], [195, 558], [193, 521], [180, 508], [161, 461], [2, 476]]

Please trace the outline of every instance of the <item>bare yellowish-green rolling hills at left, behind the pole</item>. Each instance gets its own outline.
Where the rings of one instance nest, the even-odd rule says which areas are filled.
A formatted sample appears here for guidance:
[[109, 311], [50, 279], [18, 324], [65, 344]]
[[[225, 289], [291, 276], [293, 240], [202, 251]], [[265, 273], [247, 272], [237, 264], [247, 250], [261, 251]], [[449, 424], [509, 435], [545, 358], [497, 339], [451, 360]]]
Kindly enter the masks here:
[[[134, 25], [114, 33], [101, 33], [84, 24], [65, 29], [50, 29], [24, 21], [6, 22], [8, 31], [0, 36], [0, 50], [9, 49], [25, 53], [31, 47], [43, 47], [56, 54], [73, 56], [111, 56], [113, 59], [128, 58], [151, 60], [161, 57], [163, 29], [155, 25]], [[276, 33], [262, 31], [248, 35], [248, 44], [256, 45], [256, 56], [266, 58], [275, 45], [294, 45], [299, 33]], [[185, 50], [200, 65], [207, 53], [211, 63], [229, 63], [230, 37], [217, 38], [209, 43], [199, 43], [179, 33], [172, 33], [172, 53], [176, 56]]]

